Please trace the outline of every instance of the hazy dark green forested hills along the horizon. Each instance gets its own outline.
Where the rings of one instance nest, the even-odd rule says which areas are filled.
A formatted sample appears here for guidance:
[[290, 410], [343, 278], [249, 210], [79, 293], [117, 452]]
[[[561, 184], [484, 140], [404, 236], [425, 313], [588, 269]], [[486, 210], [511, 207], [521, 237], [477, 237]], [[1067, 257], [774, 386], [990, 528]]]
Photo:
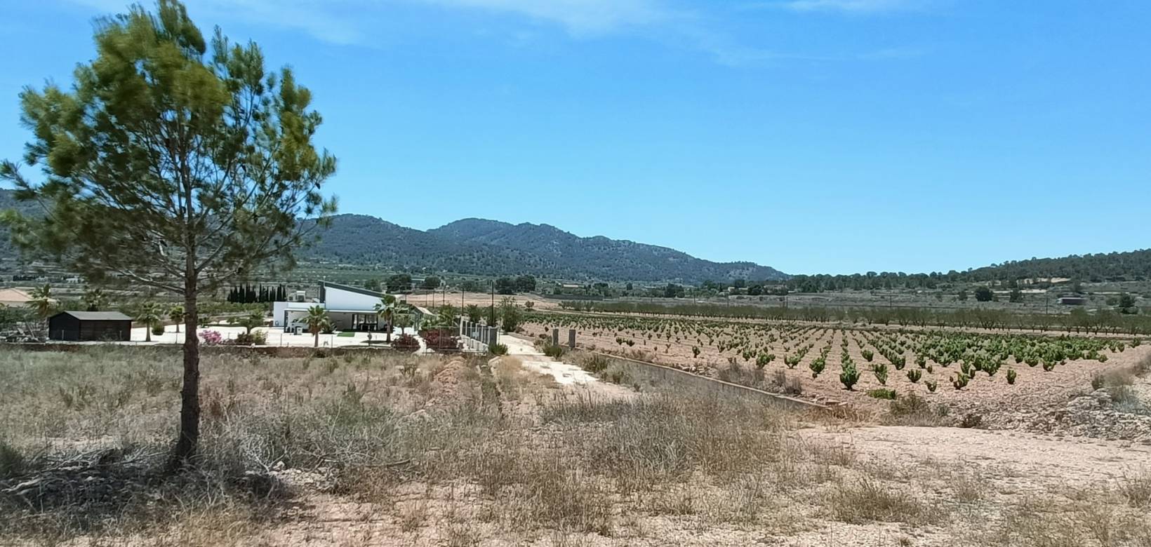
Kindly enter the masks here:
[[[0, 210], [36, 214], [37, 206], [16, 202], [0, 190]], [[303, 221], [307, 222], [307, 221]], [[783, 280], [790, 276], [753, 262], [711, 262], [668, 247], [582, 238], [548, 224], [509, 224], [464, 218], [433, 230], [414, 230], [366, 215], [337, 215], [321, 244], [300, 259], [407, 272], [482, 276], [531, 274], [574, 282], [686, 283], [731, 279]], [[8, 231], [0, 225], [0, 262], [15, 259]], [[961, 280], [1067, 277], [1082, 280], [1151, 278], [1151, 249], [1029, 259], [967, 270]]]

